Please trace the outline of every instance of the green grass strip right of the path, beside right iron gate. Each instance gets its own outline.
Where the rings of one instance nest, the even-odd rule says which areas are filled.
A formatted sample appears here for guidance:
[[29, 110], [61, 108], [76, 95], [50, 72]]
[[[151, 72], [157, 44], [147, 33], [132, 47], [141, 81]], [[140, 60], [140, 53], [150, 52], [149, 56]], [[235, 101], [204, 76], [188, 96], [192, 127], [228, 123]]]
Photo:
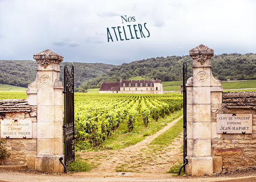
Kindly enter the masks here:
[[156, 137], [150, 145], [162, 145], [168, 146], [183, 130], [183, 118], [181, 118], [177, 123], [175, 123], [167, 131]]

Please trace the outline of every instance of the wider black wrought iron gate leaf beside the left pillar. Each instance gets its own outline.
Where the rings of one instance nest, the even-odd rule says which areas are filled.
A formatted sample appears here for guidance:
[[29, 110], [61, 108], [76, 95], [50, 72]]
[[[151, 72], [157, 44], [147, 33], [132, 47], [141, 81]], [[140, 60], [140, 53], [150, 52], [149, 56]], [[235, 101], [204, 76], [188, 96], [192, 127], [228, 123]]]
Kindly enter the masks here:
[[65, 165], [75, 160], [75, 125], [74, 125], [74, 65], [71, 72], [64, 67], [64, 156]]

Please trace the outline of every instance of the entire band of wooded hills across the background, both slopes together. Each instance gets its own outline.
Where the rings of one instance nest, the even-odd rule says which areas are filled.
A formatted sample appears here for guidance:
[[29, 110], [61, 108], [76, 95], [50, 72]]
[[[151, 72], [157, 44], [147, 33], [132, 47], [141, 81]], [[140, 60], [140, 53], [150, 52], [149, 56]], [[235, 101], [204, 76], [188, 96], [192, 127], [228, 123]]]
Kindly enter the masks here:
[[[133, 76], [142, 76], [162, 81], [182, 80], [182, 65], [188, 65], [188, 77], [192, 76], [192, 58], [186, 56], [167, 56], [148, 58], [122, 65], [104, 63], [74, 63], [75, 87], [100, 87], [102, 81], [127, 80]], [[63, 68], [67, 64], [61, 63], [60, 79], [63, 81]], [[256, 79], [256, 54], [221, 54], [211, 59], [212, 73], [216, 78], [224, 81]], [[27, 87], [36, 78], [36, 61], [0, 60], [0, 84]], [[87, 85], [87, 86], [85, 86]]]

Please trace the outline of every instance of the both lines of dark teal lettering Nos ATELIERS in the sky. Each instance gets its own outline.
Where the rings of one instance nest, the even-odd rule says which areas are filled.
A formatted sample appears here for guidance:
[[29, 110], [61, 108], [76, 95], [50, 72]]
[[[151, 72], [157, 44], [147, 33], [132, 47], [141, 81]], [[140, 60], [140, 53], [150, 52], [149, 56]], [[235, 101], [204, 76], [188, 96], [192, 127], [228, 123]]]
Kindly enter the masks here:
[[[133, 16], [133, 17], [130, 16], [130, 17], [128, 17], [128, 18], [127, 18], [127, 15], [125, 16], [125, 18], [124, 18], [123, 16], [121, 16], [121, 19], [122, 19], [122, 23], [131, 22], [131, 21], [135, 22], [135, 17], [134, 17], [134, 16]], [[122, 34], [122, 29], [121, 29], [121, 27], [117, 27], [117, 31], [118, 31], [120, 40], [130, 40], [130, 39], [134, 39], [135, 37], [136, 37], [136, 39], [140, 39], [140, 37], [138, 37], [139, 34], [137, 33], [137, 31], [140, 32], [141, 38], [143, 38], [143, 37], [146, 38], [146, 37], [145, 37], [146, 33], [148, 34], [147, 37], [149, 37], [149, 36], [150, 36], [150, 31], [148, 31], [148, 29], [146, 28], [146, 24], [147, 24], [147, 23], [144, 23], [144, 28], [143, 28], [142, 25], [138, 24], [138, 29], [136, 29], [136, 26], [137, 26], [137, 25], [133, 25], [134, 28], [131, 28], [131, 25], [127, 25], [127, 27], [129, 27], [129, 31], [130, 31], [131, 38], [128, 36], [128, 35], [129, 35], [129, 31], [127, 31], [127, 28], [126, 28], [126, 31], [125, 31], [125, 26], [122, 26], [123, 34]], [[111, 28], [113, 29], [113, 30], [112, 30], [112, 35], [113, 35], [113, 32], [114, 32], [114, 33], [115, 33], [115, 36], [116, 36], [116, 40], [118, 41], [118, 36], [117, 36], [117, 32], [116, 32], [116, 27], [111, 27]], [[112, 38], [112, 36], [111, 36], [111, 33], [110, 33], [109, 28], [106, 28], [106, 29], [107, 29], [107, 34], [108, 34], [108, 42], [109, 42], [109, 39], [111, 39], [112, 42], [113, 42], [113, 38]], [[133, 29], [134, 29], [134, 31], [133, 31]], [[131, 33], [132, 31], [135, 33], [135, 36], [134, 36], [134, 34]], [[143, 33], [143, 31], [144, 31], [144, 33]], [[146, 31], [147, 31], [147, 32], [146, 32]], [[127, 33], [127, 32], [128, 32], [128, 33]], [[121, 34], [122, 34], [122, 37], [123, 37], [123, 38], [124, 38], [124, 36], [125, 36], [125, 39], [122, 39]], [[145, 35], [144, 35], [144, 34], [145, 34]], [[129, 39], [129, 38], [130, 38], [130, 39]]]

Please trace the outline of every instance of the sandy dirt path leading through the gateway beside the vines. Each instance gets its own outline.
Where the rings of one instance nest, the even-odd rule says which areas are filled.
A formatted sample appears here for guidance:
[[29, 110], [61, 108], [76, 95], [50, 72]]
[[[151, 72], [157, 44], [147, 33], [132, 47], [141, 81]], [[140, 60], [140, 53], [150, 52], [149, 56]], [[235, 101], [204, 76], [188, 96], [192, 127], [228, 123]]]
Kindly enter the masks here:
[[173, 164], [183, 160], [182, 134], [168, 147], [159, 148], [149, 145], [154, 138], [173, 126], [181, 117], [169, 123], [165, 128], [143, 141], [120, 150], [98, 152], [77, 152], [82, 158], [93, 162], [97, 167], [91, 172], [142, 172], [165, 173]]

